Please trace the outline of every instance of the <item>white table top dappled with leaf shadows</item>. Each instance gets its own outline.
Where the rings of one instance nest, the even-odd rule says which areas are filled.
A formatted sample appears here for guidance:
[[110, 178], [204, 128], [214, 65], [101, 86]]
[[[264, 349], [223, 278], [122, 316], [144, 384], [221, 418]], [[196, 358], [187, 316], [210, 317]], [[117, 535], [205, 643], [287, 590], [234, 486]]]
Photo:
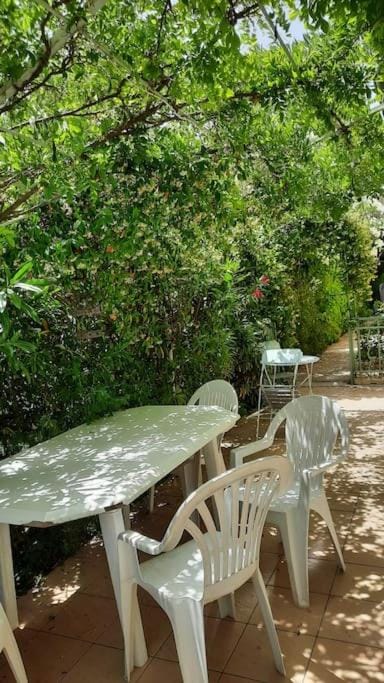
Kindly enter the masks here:
[[64, 432], [0, 462], [0, 522], [56, 524], [129, 504], [237, 419], [144, 406]]

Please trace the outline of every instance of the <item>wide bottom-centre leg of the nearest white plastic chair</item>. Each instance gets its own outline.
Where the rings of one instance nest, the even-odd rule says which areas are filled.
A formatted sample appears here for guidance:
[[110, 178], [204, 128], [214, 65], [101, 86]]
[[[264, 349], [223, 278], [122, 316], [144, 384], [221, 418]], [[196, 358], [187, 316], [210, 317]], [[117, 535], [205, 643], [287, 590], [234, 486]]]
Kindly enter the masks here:
[[183, 683], [208, 683], [203, 604], [196, 600], [170, 601], [171, 620]]

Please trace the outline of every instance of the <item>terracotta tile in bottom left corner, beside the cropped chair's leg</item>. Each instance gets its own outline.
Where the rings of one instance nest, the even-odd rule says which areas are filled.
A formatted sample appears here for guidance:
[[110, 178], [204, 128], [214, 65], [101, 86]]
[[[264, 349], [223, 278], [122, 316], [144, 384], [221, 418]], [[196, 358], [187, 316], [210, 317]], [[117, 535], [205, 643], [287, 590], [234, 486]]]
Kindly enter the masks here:
[[[64, 674], [89, 650], [89, 643], [23, 629], [16, 639], [24, 661], [28, 683], [58, 683]], [[1, 683], [14, 683], [4, 655], [0, 658]]]

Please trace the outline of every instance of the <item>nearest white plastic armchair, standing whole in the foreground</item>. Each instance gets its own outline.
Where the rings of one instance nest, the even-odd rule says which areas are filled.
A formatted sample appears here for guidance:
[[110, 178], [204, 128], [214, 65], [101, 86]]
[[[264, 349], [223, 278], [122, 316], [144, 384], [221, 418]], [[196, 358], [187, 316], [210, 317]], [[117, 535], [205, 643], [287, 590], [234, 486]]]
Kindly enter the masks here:
[[[127, 672], [133, 661], [131, 627], [137, 614], [137, 585], [150, 593], [171, 621], [184, 683], [208, 683], [204, 605], [231, 594], [252, 577], [274, 662], [284, 673], [259, 569], [259, 549], [270, 502], [291, 483], [292, 468], [286, 458], [263, 458], [224, 472], [196, 489], [176, 512], [162, 541], [134, 531], [119, 536]], [[185, 531], [193, 540], [178, 546]], [[140, 564], [137, 550], [158, 557]]]

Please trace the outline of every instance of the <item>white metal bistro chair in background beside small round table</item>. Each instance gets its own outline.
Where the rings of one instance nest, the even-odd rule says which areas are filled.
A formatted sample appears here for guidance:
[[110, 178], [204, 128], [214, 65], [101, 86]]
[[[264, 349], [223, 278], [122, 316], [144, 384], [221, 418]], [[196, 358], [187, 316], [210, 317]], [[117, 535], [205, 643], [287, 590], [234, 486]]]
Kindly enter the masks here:
[[[266, 349], [261, 357], [256, 438], [261, 413], [269, 409], [270, 418], [298, 395], [297, 373], [303, 358], [301, 349]], [[265, 407], [262, 407], [264, 402]]]

